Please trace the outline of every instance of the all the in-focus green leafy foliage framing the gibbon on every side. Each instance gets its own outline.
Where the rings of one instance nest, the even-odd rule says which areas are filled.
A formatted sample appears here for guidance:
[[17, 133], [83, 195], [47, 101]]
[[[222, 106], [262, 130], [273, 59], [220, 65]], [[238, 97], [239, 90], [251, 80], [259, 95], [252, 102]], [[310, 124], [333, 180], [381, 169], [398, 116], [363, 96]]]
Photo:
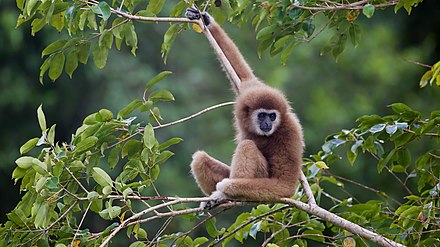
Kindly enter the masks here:
[[[95, 65], [103, 68], [113, 43], [117, 49], [122, 49], [125, 40], [126, 46], [135, 54], [138, 38], [130, 18], [156, 17], [164, 2], [129, 0], [110, 4], [82, 0], [17, 0], [22, 12], [17, 26], [31, 21], [33, 35], [46, 25], [59, 32], [67, 31], [67, 38], [52, 42], [42, 51], [45, 61], [40, 68], [40, 82], [46, 73], [51, 80], [56, 80], [63, 71], [72, 77], [78, 64], [87, 63], [90, 55]], [[360, 30], [356, 20], [360, 13], [371, 18], [387, 3], [394, 3], [396, 11], [404, 7], [410, 13], [420, 1], [362, 2], [346, 5], [341, 2], [329, 7], [320, 5], [320, 1], [301, 0], [293, 3], [214, 1], [218, 8], [211, 7], [211, 10], [217, 20], [228, 19], [237, 25], [252, 20], [258, 30], [259, 54], [265, 50], [269, 50], [271, 56], [281, 54], [281, 62], [285, 63], [293, 47], [310, 41], [327, 28], [335, 29], [336, 33], [322, 48], [321, 54], [331, 53], [337, 59], [348, 39], [354, 46], [359, 44]], [[189, 5], [180, 1], [169, 16], [182, 16]], [[130, 16], [125, 16], [126, 13]], [[315, 18], [319, 14], [327, 21], [323, 27], [316, 28]], [[165, 61], [176, 35], [184, 28], [187, 24], [172, 24], [165, 33], [162, 45]], [[315, 32], [318, 29], [320, 31]], [[438, 66], [434, 65], [430, 71], [429, 76], [425, 74], [422, 78], [426, 83], [421, 86], [428, 80], [432, 84], [434, 78], [438, 81]], [[200, 209], [173, 206], [198, 202], [196, 199], [185, 201], [156, 194], [154, 182], [159, 178], [161, 164], [173, 155], [167, 149], [181, 141], [172, 138], [160, 143], [154, 131], [161, 127], [162, 120], [156, 103], [174, 97], [167, 90], [150, 93], [150, 89], [168, 74], [163, 72], [150, 80], [142, 99], [132, 101], [116, 117], [109, 110], [102, 109], [85, 118], [69, 143], [55, 142], [55, 125], [48, 127], [42, 107], [38, 108], [42, 135], [20, 148], [23, 156], [16, 160], [12, 177], [16, 182], [21, 181], [20, 189], [24, 195], [7, 215], [9, 221], [0, 228], [0, 246], [19, 243], [59, 247], [105, 245], [121, 229], [126, 229], [127, 236], [137, 240], [130, 246], [216, 243], [226, 246], [234, 239], [240, 243], [255, 239], [264, 241], [267, 246], [307, 246], [315, 242], [352, 246], [354, 241], [361, 246], [368, 245], [364, 239], [345, 229], [283, 204], [255, 206], [238, 215], [233, 223], [220, 228], [215, 216], [223, 213], [225, 208], [216, 209], [211, 214], [197, 214]], [[440, 114], [434, 111], [424, 119], [419, 112], [404, 104], [391, 107], [395, 112], [393, 115], [363, 116], [358, 119], [358, 127], [330, 136], [323, 150], [306, 160], [306, 176], [318, 204], [328, 198], [332, 201], [330, 211], [397, 242], [438, 245], [440, 150], [435, 145], [428, 145], [428, 150], [420, 154], [420, 149], [425, 146], [417, 144], [438, 144]], [[148, 113], [150, 121], [135, 123], [134, 117], [127, 118], [136, 109]], [[35, 147], [39, 153], [33, 155]], [[348, 148], [346, 156], [338, 155], [344, 147]], [[378, 198], [366, 203], [354, 202], [351, 197], [338, 199], [342, 196], [327, 192], [323, 184], [343, 188], [344, 183], [354, 182], [334, 176], [329, 167], [342, 157], [354, 165], [360, 151], [374, 157], [378, 173], [385, 170], [402, 185], [405, 200], [394, 199], [384, 191], [367, 186], [377, 193]], [[414, 192], [414, 184], [417, 192]], [[295, 199], [305, 201], [304, 193], [299, 190]], [[150, 205], [149, 201], [154, 200], [169, 202]], [[169, 207], [168, 211], [156, 211], [165, 209], [165, 206]], [[105, 220], [106, 227], [99, 232], [84, 228], [83, 220], [90, 215]], [[166, 232], [171, 220], [178, 215], [199, 223], [187, 232]], [[154, 235], [147, 230], [146, 223], [160, 218], [167, 220], [161, 231]], [[205, 226], [204, 235], [195, 235], [202, 225]]]

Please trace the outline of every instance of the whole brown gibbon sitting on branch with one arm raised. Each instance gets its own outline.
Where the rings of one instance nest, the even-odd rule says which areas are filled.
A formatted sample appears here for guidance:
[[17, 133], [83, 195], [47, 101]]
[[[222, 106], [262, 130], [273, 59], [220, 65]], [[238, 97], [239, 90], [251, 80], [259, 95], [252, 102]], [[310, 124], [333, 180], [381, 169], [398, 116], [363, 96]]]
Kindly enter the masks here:
[[302, 128], [280, 91], [252, 72], [238, 48], [208, 13], [187, 9], [203, 22], [241, 80], [234, 88], [237, 148], [228, 166], [204, 151], [193, 154], [191, 172], [202, 192], [211, 197], [205, 208], [227, 199], [275, 201], [295, 193], [304, 150]]

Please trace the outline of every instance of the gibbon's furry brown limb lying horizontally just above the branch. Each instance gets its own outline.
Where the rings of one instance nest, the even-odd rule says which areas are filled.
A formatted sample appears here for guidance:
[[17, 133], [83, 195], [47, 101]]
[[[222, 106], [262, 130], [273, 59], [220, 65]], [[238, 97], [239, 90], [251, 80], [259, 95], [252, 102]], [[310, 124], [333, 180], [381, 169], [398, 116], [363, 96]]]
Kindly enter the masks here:
[[227, 178], [218, 183], [216, 188], [231, 199], [272, 201], [293, 196], [296, 185], [297, 181], [277, 178]]

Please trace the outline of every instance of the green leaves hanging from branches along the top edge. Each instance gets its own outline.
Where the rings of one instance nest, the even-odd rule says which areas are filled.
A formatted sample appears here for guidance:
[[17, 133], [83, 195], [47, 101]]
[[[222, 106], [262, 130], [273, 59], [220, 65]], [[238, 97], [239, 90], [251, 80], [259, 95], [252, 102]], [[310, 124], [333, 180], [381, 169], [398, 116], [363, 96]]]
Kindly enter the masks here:
[[[376, 8], [395, 6], [395, 11], [404, 7], [408, 13], [420, 0], [371, 1], [353, 2], [349, 4], [334, 2], [334, 6], [327, 6], [319, 1], [213, 1], [215, 7], [210, 11], [219, 22], [229, 19], [237, 25], [243, 25], [252, 20], [256, 38], [260, 42], [258, 54], [269, 50], [271, 56], [280, 55], [281, 63], [286, 64], [292, 49], [304, 42], [313, 40], [325, 29], [334, 29], [333, 36], [327, 45], [322, 47], [321, 55], [332, 54], [337, 60], [344, 51], [347, 40], [358, 46], [361, 30], [356, 24], [362, 12], [368, 18], [374, 15]], [[46, 1], [17, 0], [21, 14], [17, 26], [31, 21], [32, 35], [35, 35], [45, 25], [54, 27], [58, 32], [66, 30], [68, 38], [60, 39], [49, 44], [43, 50], [46, 57], [40, 67], [40, 82], [44, 75], [55, 81], [63, 70], [72, 77], [78, 64], [86, 64], [90, 53], [98, 68], [106, 65], [108, 50], [115, 46], [121, 49], [122, 43], [131, 47], [136, 54], [138, 37], [132, 20], [159, 21], [148, 19], [156, 17], [162, 10], [165, 1], [148, 1], [143, 6], [142, 1], [113, 1], [111, 5], [105, 1], [76, 0]], [[205, 1], [194, 1], [202, 6]], [[190, 3], [179, 1], [169, 13], [170, 17], [181, 17]], [[141, 9], [141, 10], [138, 10]], [[127, 14], [128, 13], [128, 14]], [[319, 31], [317, 17], [323, 16], [327, 20]], [[146, 17], [142, 19], [142, 17]], [[176, 36], [187, 24], [172, 24], [164, 35], [162, 53], [166, 62], [168, 54]], [[315, 32], [316, 31], [316, 32]], [[429, 79], [429, 78], [428, 78]], [[432, 82], [431, 82], [432, 83]], [[422, 83], [421, 83], [422, 84]]]

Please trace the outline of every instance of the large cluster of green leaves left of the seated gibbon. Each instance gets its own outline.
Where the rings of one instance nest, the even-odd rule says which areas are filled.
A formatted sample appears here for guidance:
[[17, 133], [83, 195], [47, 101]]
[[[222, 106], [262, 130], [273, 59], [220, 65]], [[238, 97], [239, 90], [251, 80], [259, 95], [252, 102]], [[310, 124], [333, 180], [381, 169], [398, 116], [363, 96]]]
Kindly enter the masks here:
[[[167, 149], [182, 141], [175, 137], [160, 143], [152, 126], [161, 119], [154, 105], [174, 97], [167, 90], [150, 89], [169, 74], [162, 72], [149, 81], [145, 99], [122, 109], [118, 117], [107, 109], [87, 116], [70, 142], [57, 142], [56, 125], [48, 127], [42, 106], [37, 109], [42, 134], [23, 144], [23, 156], [15, 161], [12, 178], [21, 181], [24, 194], [0, 228], [1, 246], [100, 243], [118, 221], [133, 214], [130, 198], [153, 185], [160, 166], [174, 155]], [[127, 118], [137, 108], [152, 121], [142, 126], [135, 117]], [[108, 221], [108, 228], [100, 233], [81, 229], [79, 219], [86, 214]], [[146, 238], [139, 225], [128, 230], [135, 238]]]

